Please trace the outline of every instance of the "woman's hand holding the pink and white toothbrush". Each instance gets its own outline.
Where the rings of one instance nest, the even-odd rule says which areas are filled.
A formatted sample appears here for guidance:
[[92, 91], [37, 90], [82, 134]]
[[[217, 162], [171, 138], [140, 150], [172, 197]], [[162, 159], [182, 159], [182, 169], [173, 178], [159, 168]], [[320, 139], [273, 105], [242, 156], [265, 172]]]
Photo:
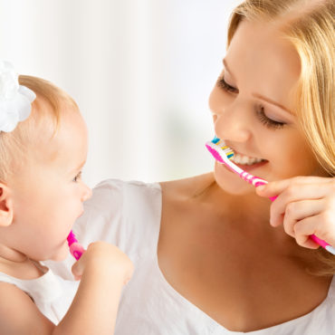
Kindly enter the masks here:
[[317, 249], [309, 238], [316, 235], [335, 245], [335, 178], [293, 177], [257, 187], [259, 196], [278, 196], [271, 206], [270, 224], [283, 225], [285, 232], [304, 247]]

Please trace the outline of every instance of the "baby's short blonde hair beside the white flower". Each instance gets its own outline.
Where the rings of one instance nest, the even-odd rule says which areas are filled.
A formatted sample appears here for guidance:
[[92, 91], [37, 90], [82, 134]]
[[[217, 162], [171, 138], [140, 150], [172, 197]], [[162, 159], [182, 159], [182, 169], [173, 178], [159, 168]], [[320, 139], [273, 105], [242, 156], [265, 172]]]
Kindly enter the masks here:
[[[53, 85], [50, 81], [41, 78], [20, 75], [20, 85], [24, 85], [36, 94], [32, 103], [32, 111], [27, 120], [19, 122], [11, 132], [0, 132], [0, 181], [5, 182], [12, 177], [18, 168], [24, 166], [30, 150], [36, 150], [36, 132], [42, 129], [51, 129], [52, 138], [59, 127], [65, 106], [72, 110], [79, 110], [72, 98]], [[47, 140], [47, 139], [46, 139]]]

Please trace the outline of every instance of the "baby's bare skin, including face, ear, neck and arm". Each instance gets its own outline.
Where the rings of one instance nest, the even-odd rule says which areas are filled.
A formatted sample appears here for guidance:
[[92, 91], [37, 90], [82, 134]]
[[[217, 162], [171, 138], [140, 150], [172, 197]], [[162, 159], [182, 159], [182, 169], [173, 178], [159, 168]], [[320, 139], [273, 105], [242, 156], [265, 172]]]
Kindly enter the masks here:
[[[38, 106], [50, 108], [39, 102]], [[68, 255], [66, 238], [82, 213], [82, 203], [91, 196], [81, 180], [88, 147], [86, 125], [73, 106], [61, 107], [65, 112], [56, 135], [46, 124], [37, 126], [23, 168], [0, 184], [0, 272], [19, 279], [39, 278], [48, 271], [39, 261], [60, 261]], [[0, 304], [0, 333], [110, 335], [122, 287], [132, 271], [129, 258], [116, 246], [90, 244], [72, 267], [81, 282], [57, 326], [25, 292], [0, 282], [0, 300], [5, 302]]]

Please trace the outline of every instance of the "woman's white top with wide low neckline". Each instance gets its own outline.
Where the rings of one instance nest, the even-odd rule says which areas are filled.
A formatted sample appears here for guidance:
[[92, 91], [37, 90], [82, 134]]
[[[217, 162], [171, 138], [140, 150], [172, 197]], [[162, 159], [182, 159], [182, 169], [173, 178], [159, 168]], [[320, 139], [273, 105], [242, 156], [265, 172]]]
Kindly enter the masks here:
[[[93, 190], [84, 215], [74, 225], [82, 244], [96, 240], [117, 244], [135, 264], [134, 275], [122, 294], [115, 334], [242, 334], [226, 330], [164, 278], [157, 257], [161, 206], [158, 184], [107, 180]], [[63, 272], [65, 267], [58, 265], [57, 269]], [[327, 299], [314, 311], [249, 334], [335, 334], [335, 281], [331, 282]]]

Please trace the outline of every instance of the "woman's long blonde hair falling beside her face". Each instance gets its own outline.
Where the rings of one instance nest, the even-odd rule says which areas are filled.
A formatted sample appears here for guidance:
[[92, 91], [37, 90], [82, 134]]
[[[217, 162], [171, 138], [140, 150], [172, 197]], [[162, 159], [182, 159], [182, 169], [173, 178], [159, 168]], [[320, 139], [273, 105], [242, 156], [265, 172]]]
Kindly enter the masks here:
[[[335, 176], [333, 1], [246, 0], [238, 5], [228, 27], [227, 44], [243, 20], [273, 24], [290, 41], [301, 60], [296, 91], [296, 113], [315, 157], [331, 177]], [[335, 273], [334, 256], [320, 248], [324, 267], [318, 274]]]

